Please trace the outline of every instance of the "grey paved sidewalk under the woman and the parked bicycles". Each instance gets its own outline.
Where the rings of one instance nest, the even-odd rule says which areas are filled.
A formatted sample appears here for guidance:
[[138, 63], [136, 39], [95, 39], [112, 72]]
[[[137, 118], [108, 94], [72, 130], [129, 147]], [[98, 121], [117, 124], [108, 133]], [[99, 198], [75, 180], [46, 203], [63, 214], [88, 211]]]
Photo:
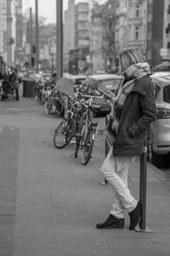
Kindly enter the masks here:
[[[99, 121], [102, 131], [105, 119]], [[0, 256], [170, 255], [170, 180], [147, 166], [146, 226], [152, 231], [96, 230], [109, 215], [109, 185], [99, 170], [105, 138], [99, 132], [93, 160], [71, 157], [74, 144], [53, 145], [60, 119], [44, 115], [35, 100], [0, 102]], [[103, 126], [104, 125], [104, 126]], [[129, 188], [139, 198], [139, 160], [131, 163]]]

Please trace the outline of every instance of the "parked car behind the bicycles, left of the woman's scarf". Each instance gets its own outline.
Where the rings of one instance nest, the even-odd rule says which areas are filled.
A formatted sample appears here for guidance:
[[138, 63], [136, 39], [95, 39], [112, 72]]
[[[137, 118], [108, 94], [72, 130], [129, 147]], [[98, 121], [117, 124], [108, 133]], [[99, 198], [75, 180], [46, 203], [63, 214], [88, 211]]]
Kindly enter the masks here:
[[[89, 75], [82, 84], [82, 92], [88, 95], [95, 95], [98, 89], [114, 92], [122, 79], [123, 77], [121, 75], [116, 74]], [[100, 108], [94, 109], [94, 115], [97, 113], [109, 113], [111, 111], [110, 102], [106, 101], [105, 98], [94, 99], [94, 103], [100, 105]]]

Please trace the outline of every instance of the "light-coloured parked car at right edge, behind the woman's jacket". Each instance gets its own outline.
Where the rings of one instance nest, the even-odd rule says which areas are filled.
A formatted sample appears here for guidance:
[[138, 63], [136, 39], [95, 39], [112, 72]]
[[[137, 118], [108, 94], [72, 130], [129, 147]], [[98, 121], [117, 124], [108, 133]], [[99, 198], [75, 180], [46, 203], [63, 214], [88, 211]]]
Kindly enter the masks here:
[[155, 143], [149, 147], [150, 162], [161, 167], [170, 154], [170, 78], [152, 76], [155, 86], [157, 119], [152, 124]]

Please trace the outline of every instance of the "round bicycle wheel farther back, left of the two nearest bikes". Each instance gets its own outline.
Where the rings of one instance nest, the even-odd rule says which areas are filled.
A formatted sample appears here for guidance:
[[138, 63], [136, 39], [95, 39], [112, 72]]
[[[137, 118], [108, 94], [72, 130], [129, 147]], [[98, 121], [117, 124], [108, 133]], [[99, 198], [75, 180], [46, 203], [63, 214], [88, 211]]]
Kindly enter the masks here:
[[59, 98], [48, 99], [43, 105], [44, 113], [48, 117], [58, 117], [63, 111], [63, 104]]

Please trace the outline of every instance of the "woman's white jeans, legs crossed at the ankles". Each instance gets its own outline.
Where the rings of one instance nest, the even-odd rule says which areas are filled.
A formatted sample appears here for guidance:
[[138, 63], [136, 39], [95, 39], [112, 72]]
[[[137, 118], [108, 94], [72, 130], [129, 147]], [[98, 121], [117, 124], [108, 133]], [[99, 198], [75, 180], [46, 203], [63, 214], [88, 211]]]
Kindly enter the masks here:
[[138, 201], [127, 188], [128, 167], [132, 160], [129, 156], [112, 156], [112, 147], [107, 154], [101, 172], [113, 189], [113, 205], [111, 214], [116, 218], [124, 218], [124, 209], [133, 211]]

